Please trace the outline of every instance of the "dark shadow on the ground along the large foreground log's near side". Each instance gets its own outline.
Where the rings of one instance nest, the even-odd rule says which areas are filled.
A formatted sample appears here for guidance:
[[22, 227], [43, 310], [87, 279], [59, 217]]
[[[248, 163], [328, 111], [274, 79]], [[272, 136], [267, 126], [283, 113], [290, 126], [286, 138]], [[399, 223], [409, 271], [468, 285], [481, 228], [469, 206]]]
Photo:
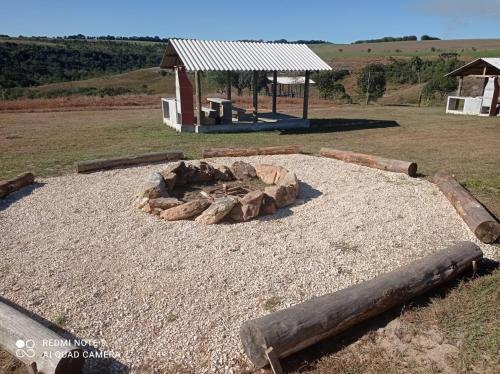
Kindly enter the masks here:
[[[490, 259], [482, 259], [476, 276], [484, 276], [493, 273], [499, 268], [499, 263]], [[406, 303], [394, 307], [374, 318], [370, 318], [349, 330], [316, 343], [294, 355], [281, 360], [283, 371], [285, 373], [297, 373], [313, 370], [316, 368], [317, 361], [327, 355], [341, 351], [343, 348], [355, 343], [363, 336], [384, 328], [391, 321], [401, 316], [407, 309], [416, 309], [429, 306], [434, 298], [445, 298], [460, 282], [470, 281], [473, 277], [472, 271], [466, 271], [461, 276], [450, 282], [435, 288], [421, 296], [408, 300]]]

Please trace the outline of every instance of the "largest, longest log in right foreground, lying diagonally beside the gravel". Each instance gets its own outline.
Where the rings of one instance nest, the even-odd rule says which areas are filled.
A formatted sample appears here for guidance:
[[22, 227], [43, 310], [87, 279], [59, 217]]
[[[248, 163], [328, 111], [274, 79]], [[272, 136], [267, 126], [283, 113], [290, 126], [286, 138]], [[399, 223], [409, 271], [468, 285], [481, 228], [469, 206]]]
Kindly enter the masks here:
[[246, 321], [240, 328], [245, 353], [262, 368], [268, 348], [287, 357], [443, 284], [482, 255], [474, 243], [461, 242], [369, 281]]

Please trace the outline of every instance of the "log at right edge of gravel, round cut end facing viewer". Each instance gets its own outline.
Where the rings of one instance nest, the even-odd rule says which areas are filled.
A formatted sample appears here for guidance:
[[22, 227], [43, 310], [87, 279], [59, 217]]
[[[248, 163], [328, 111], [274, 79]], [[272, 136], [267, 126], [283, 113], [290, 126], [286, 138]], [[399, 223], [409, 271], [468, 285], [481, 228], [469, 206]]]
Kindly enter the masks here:
[[500, 224], [465, 188], [450, 175], [437, 173], [434, 183], [450, 200], [467, 226], [484, 243], [494, 243], [500, 236]]

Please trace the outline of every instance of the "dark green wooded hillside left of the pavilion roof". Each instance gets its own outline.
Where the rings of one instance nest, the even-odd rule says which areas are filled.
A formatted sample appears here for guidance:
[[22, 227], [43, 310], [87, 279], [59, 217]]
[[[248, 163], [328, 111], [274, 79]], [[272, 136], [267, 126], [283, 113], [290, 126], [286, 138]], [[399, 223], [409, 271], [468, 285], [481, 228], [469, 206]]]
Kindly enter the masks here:
[[160, 43], [3, 42], [0, 43], [0, 89], [75, 81], [158, 66], [164, 50], [165, 46]]

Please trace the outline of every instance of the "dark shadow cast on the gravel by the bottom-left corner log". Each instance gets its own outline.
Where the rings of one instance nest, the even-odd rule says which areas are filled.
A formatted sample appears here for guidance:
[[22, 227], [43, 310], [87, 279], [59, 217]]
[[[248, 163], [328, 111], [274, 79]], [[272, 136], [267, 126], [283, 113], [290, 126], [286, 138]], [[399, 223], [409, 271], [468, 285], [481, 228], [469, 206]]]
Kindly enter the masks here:
[[[116, 360], [115, 358], [96, 358], [96, 356], [99, 355], [99, 352], [101, 352], [98, 348], [93, 347], [90, 345], [90, 342], [85, 341], [85, 339], [79, 338], [76, 335], [70, 333], [69, 331], [63, 329], [61, 326], [55, 325], [51, 321], [39, 316], [38, 314], [35, 314], [22, 306], [5, 299], [0, 296], [0, 302], [16, 309], [20, 313], [28, 316], [29, 318], [33, 319], [34, 321], [40, 323], [41, 325], [47, 327], [48, 329], [56, 332], [58, 335], [61, 336], [63, 340], [68, 340], [69, 342], [85, 342], [82, 343], [82, 345], [78, 348], [81, 348], [83, 351], [86, 351], [90, 354], [90, 356], [85, 360], [84, 368], [83, 368], [83, 373], [85, 374], [105, 374], [105, 373], [117, 373], [117, 374], [128, 374], [130, 373], [130, 369], [122, 364], [120, 361]], [[26, 338], [29, 339], [27, 336]], [[61, 342], [63, 343], [63, 342]], [[87, 345], [87, 343], [89, 343]], [[102, 355], [102, 353], [101, 353]], [[93, 356], [93, 357], [92, 357]], [[105, 357], [105, 356], [102, 356]], [[76, 373], [75, 373], [76, 374]]]

